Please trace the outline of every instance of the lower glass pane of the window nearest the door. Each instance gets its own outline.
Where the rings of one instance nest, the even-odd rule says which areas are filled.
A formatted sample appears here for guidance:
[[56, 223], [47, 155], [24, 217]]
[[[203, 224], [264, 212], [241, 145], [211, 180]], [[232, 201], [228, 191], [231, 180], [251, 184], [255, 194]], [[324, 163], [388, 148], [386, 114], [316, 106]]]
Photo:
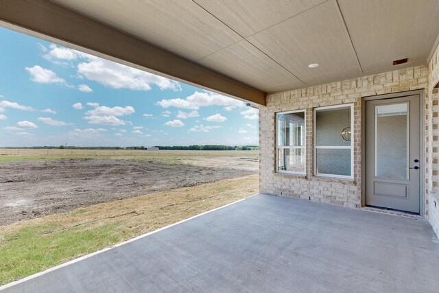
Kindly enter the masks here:
[[318, 174], [351, 176], [350, 149], [322, 149], [316, 150], [316, 167]]

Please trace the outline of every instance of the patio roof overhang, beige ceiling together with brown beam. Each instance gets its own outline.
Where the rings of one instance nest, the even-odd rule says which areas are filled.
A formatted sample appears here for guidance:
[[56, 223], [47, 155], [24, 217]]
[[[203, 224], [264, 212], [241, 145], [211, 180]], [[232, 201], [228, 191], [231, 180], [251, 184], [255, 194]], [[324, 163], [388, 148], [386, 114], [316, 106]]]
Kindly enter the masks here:
[[438, 14], [436, 0], [0, 1], [0, 25], [259, 105], [426, 64]]

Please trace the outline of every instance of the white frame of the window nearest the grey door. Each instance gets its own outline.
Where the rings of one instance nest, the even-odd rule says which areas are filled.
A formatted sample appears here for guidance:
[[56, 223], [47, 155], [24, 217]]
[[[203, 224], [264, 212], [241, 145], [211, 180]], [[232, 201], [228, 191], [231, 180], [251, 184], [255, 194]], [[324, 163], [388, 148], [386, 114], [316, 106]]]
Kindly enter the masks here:
[[[316, 119], [317, 119], [317, 111], [318, 110], [325, 110], [325, 109], [335, 109], [335, 108], [346, 108], [351, 107], [351, 146], [348, 145], [339, 145], [339, 146], [317, 146], [316, 145]], [[344, 178], [344, 179], [353, 179], [354, 178], [354, 104], [338, 104], [334, 106], [324, 106], [324, 107], [318, 107], [314, 108], [313, 110], [313, 139], [314, 139], [314, 150], [313, 150], [313, 156], [314, 156], [314, 176], [321, 176], [321, 177], [330, 177], [330, 178]], [[341, 130], [340, 130], [341, 133]], [[341, 135], [341, 134], [340, 134]], [[324, 173], [318, 173], [317, 172], [317, 150], [318, 149], [326, 149], [326, 150], [351, 150], [351, 176], [346, 175], [337, 175], [337, 174], [324, 174]]]

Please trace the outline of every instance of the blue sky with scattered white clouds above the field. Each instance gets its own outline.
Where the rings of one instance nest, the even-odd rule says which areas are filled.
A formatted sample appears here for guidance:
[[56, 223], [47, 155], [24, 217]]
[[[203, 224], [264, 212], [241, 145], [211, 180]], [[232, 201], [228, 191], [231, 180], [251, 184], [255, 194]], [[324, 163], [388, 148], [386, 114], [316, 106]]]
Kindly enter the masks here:
[[0, 147], [257, 145], [237, 99], [0, 28]]

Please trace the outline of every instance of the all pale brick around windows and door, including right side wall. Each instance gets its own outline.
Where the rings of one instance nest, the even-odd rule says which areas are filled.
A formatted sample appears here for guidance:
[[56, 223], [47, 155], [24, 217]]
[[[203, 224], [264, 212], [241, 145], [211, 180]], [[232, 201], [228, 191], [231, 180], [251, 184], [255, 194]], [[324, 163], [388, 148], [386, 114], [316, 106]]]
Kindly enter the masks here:
[[[435, 213], [439, 234], [439, 202], [432, 207], [429, 194], [439, 194], [439, 94], [433, 86], [439, 80], [439, 49], [429, 65], [411, 67], [362, 78], [332, 82], [306, 89], [268, 95], [267, 106], [259, 109], [259, 189], [262, 193], [327, 202], [344, 207], [361, 207], [361, 102], [363, 97], [422, 89], [425, 99], [425, 218]], [[354, 105], [353, 180], [313, 176], [313, 108], [337, 104]], [[276, 113], [306, 110], [306, 174], [276, 172]], [[434, 220], [436, 219], [436, 220]]]

